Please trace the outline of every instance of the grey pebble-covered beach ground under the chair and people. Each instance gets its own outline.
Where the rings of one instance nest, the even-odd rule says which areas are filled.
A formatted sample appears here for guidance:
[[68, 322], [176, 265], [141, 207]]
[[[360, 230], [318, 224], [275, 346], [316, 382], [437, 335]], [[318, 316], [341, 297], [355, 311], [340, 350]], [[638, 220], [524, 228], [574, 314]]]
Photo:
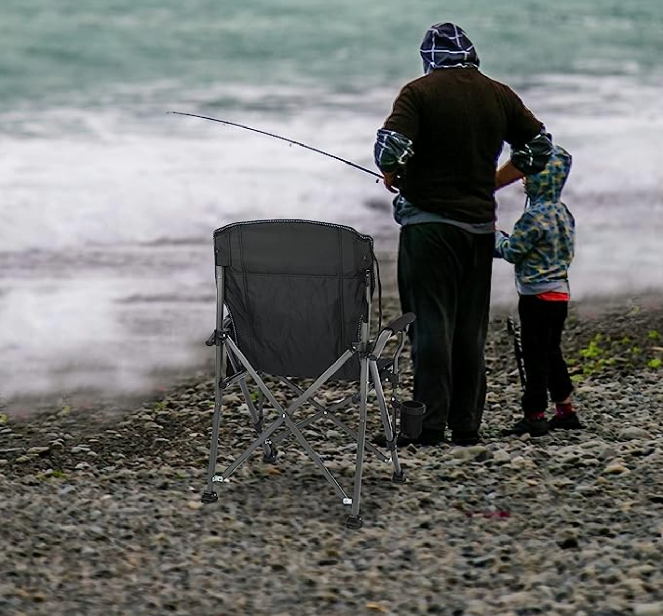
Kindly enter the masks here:
[[[369, 458], [361, 530], [293, 440], [200, 503], [208, 374], [135, 406], [7, 406], [0, 614], [663, 615], [663, 302], [573, 307], [564, 348], [586, 429], [538, 439], [501, 436], [520, 394], [505, 321], [493, 314], [483, 443], [410, 446], [404, 485]], [[239, 388], [225, 401], [219, 470], [251, 440]], [[318, 425], [349, 490], [353, 447]]]

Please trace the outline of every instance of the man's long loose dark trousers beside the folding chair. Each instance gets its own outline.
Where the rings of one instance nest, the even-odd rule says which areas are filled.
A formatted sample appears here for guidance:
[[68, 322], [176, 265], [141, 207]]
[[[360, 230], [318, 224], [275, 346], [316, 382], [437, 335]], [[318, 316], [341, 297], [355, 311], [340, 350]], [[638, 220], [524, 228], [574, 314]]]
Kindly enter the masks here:
[[400, 230], [398, 291], [408, 332], [414, 399], [426, 404], [424, 430], [479, 429], [486, 395], [483, 360], [495, 236], [446, 223]]

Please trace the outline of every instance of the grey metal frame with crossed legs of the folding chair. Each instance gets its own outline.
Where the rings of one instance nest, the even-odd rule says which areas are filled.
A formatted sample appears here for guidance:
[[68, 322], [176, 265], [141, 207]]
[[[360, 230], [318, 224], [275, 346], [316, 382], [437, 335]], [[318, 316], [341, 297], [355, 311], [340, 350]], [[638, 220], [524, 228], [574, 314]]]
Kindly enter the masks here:
[[[310, 222], [310, 221], [302, 221]], [[241, 224], [241, 223], [235, 223]], [[327, 223], [325, 223], [327, 224]], [[332, 225], [337, 226], [337, 225]], [[349, 227], [343, 227], [349, 229]], [[351, 229], [354, 231], [354, 229]], [[355, 231], [356, 233], [356, 231]], [[296, 385], [291, 379], [283, 375], [274, 375], [281, 383], [284, 383], [296, 394], [296, 398], [287, 406], [280, 404], [272, 391], [265, 383], [261, 373], [255, 369], [244, 353], [241, 351], [235, 340], [233, 339], [233, 321], [232, 314], [229, 310], [229, 316], [223, 317], [223, 307], [225, 302], [225, 284], [224, 284], [224, 269], [223, 265], [216, 265], [215, 267], [215, 280], [216, 280], [216, 328], [211, 334], [210, 338], [206, 341], [209, 346], [216, 347], [215, 354], [215, 403], [214, 413], [212, 418], [212, 432], [211, 432], [211, 446], [210, 446], [210, 460], [207, 473], [207, 487], [202, 495], [202, 502], [209, 504], [218, 500], [218, 494], [215, 491], [215, 484], [228, 481], [229, 477], [259, 448], [263, 449], [263, 461], [268, 463], [276, 462], [276, 445], [288, 438], [294, 436], [298, 443], [304, 448], [306, 454], [314, 462], [318, 470], [324, 475], [335, 493], [341, 498], [341, 502], [345, 506], [350, 507], [349, 515], [345, 521], [347, 528], [361, 528], [363, 520], [360, 515], [361, 505], [361, 485], [363, 477], [364, 454], [368, 450], [371, 454], [375, 454], [382, 462], [392, 463], [393, 473], [392, 481], [394, 483], [404, 483], [406, 481], [405, 473], [402, 469], [398, 459], [398, 452], [396, 448], [396, 411], [400, 406], [398, 398], [396, 397], [396, 388], [399, 383], [398, 375], [398, 359], [405, 344], [405, 336], [408, 326], [414, 321], [415, 316], [412, 313], [407, 313], [389, 325], [382, 328], [375, 339], [369, 338], [369, 331], [371, 326], [371, 276], [373, 264], [371, 269], [365, 271], [365, 302], [367, 306], [365, 320], [361, 320], [360, 337], [359, 340], [350, 344], [350, 347], [336, 359], [305, 391]], [[382, 359], [385, 346], [392, 336], [400, 336], [400, 341], [396, 351], [391, 359]], [[330, 377], [352, 357], [359, 357], [359, 391], [353, 395], [345, 397], [339, 402], [335, 402], [332, 406], [327, 408], [318, 400], [315, 399], [316, 393], [322, 386], [330, 379]], [[230, 362], [233, 368], [233, 373], [230, 376], [223, 377], [227, 367], [227, 361]], [[258, 387], [257, 406], [254, 404], [247, 385], [247, 378], [251, 377]], [[391, 383], [391, 406], [392, 414], [390, 416], [385, 401], [385, 392], [382, 386], [382, 380], [389, 380]], [[227, 468], [221, 473], [217, 473], [217, 458], [219, 452], [219, 430], [221, 422], [221, 410], [223, 408], [223, 393], [228, 387], [239, 384], [241, 393], [247, 404], [251, 420], [257, 434], [255, 440], [251, 442], [238, 458], [235, 459]], [[366, 440], [366, 424], [367, 424], [367, 399], [369, 392], [375, 391], [377, 403], [379, 406], [381, 420], [385, 431], [385, 438], [387, 441], [387, 451], [385, 454], [375, 446], [367, 443]], [[272, 408], [276, 411], [276, 419], [264, 426], [263, 416], [263, 401], [271, 404]], [[359, 402], [359, 429], [357, 432], [352, 430], [347, 424], [341, 420], [335, 413], [341, 408], [350, 403], [356, 404]], [[302, 405], [309, 403], [314, 406], [316, 412], [308, 416], [306, 419], [296, 421], [292, 414], [295, 410]], [[310, 426], [313, 422], [320, 418], [330, 419], [336, 426], [341, 428], [345, 434], [350, 436], [357, 442], [357, 457], [355, 464], [355, 473], [353, 481], [352, 495], [350, 496], [338, 483], [331, 471], [324, 465], [320, 456], [314, 451], [311, 444], [306, 440], [302, 434], [302, 429]], [[286, 428], [281, 434], [276, 434], [279, 428]]]

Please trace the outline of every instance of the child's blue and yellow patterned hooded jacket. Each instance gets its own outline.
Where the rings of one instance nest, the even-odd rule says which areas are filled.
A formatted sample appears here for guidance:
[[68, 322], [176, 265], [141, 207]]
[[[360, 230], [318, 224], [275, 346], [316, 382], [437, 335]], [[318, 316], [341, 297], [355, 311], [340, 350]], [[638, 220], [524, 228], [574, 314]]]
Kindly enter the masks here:
[[515, 264], [520, 294], [569, 292], [575, 221], [560, 198], [570, 169], [571, 155], [554, 146], [546, 168], [526, 177], [528, 203], [512, 235], [495, 235], [495, 256]]

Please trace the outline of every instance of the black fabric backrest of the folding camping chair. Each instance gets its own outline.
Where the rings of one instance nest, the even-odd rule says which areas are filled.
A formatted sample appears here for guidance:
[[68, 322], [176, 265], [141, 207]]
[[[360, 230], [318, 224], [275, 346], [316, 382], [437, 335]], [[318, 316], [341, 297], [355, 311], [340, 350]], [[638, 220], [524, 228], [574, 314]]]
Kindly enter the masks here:
[[[359, 341], [373, 295], [373, 239], [351, 227], [257, 220], [214, 231], [233, 338], [271, 375], [316, 378]], [[353, 357], [331, 377], [356, 380]]]

